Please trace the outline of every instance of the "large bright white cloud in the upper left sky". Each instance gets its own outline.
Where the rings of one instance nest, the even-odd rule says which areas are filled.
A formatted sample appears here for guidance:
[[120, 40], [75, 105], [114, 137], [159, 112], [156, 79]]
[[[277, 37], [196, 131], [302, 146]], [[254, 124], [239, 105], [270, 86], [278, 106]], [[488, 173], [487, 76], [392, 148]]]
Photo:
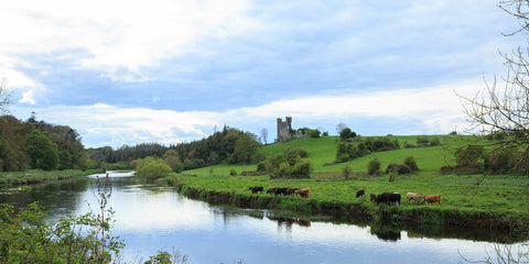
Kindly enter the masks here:
[[[0, 40], [0, 54], [80, 51], [79, 68], [102, 70], [114, 80], [144, 81], [151, 76], [141, 68], [193, 50], [204, 37], [244, 31], [251, 24], [244, 15], [247, 8], [233, 0], [2, 1], [0, 26], [9, 37]], [[13, 66], [0, 62], [0, 67]]]

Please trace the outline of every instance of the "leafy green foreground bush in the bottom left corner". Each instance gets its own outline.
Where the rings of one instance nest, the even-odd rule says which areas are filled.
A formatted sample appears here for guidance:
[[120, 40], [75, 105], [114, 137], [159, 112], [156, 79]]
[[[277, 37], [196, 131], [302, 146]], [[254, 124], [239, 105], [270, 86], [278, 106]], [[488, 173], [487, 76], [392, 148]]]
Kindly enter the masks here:
[[110, 193], [98, 186], [99, 213], [67, 216], [53, 224], [36, 202], [22, 210], [0, 205], [0, 262], [111, 263], [125, 244], [109, 235]]

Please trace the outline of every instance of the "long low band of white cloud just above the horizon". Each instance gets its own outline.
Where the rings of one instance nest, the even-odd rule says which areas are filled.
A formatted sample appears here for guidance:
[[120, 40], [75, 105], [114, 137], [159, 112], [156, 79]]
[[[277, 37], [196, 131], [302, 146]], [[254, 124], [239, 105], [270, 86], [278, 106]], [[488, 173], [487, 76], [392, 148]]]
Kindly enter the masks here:
[[[475, 86], [455, 88], [472, 95]], [[464, 125], [461, 102], [450, 86], [427, 89], [401, 89], [374, 95], [314, 96], [281, 100], [256, 108], [226, 112], [153, 110], [117, 108], [104, 103], [80, 107], [48, 107], [36, 110], [46, 122], [67, 124], [76, 129], [88, 146], [121, 146], [140, 142], [163, 144], [188, 142], [207, 136], [214, 127], [224, 124], [249, 131], [245, 124], [272, 122], [278, 117], [292, 116], [304, 120], [322, 118], [338, 123], [343, 118], [402, 118], [422, 123], [423, 131]], [[365, 124], [368, 125], [368, 124]], [[256, 128], [256, 129], [261, 129]], [[461, 128], [461, 127], [460, 127]], [[256, 134], [259, 131], [250, 131]], [[395, 134], [407, 131], [393, 131]]]

